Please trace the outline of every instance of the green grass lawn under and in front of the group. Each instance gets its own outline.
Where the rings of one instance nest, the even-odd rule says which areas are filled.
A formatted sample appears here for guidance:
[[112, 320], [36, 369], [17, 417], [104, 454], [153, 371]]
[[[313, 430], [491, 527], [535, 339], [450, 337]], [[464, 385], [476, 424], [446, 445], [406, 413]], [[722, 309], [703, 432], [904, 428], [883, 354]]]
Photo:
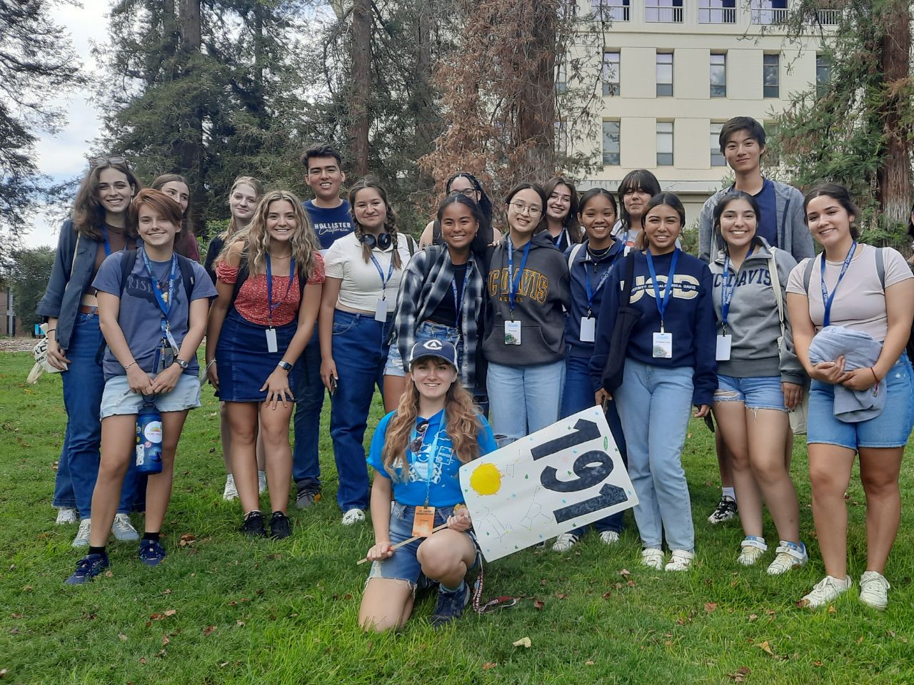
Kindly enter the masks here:
[[[793, 606], [824, 574], [802, 442], [793, 474], [811, 564], [770, 577], [770, 552], [758, 568], [738, 569], [739, 525], [705, 520], [719, 493], [717, 464], [713, 439], [694, 422], [684, 454], [696, 520], [693, 570], [642, 567], [629, 515], [613, 548], [590, 533], [568, 554], [526, 550], [488, 565], [486, 597], [524, 595], [515, 607], [484, 617], [470, 611], [435, 632], [425, 620], [434, 597], [425, 596], [399, 635], [365, 635], [356, 616], [367, 566], [356, 560], [373, 538], [370, 525], [338, 523], [326, 421], [324, 501], [292, 509], [291, 539], [250, 542], [236, 530], [239, 505], [221, 499], [217, 405], [208, 386], [178, 449], [165, 564], [149, 569], [135, 543], [112, 543], [109, 577], [64, 586], [80, 553], [69, 544], [75, 526], [55, 526], [49, 504], [65, 423], [60, 381], [46, 375], [27, 385], [31, 364], [27, 353], [0, 353], [4, 683], [914, 682], [910, 461], [885, 613], [861, 605], [856, 588], [834, 610]], [[376, 404], [372, 426], [379, 416]], [[848, 497], [856, 582], [866, 561], [858, 479]], [[134, 522], [142, 530], [139, 516]], [[770, 519], [766, 534], [771, 542]], [[520, 638], [532, 646], [513, 647]]]

